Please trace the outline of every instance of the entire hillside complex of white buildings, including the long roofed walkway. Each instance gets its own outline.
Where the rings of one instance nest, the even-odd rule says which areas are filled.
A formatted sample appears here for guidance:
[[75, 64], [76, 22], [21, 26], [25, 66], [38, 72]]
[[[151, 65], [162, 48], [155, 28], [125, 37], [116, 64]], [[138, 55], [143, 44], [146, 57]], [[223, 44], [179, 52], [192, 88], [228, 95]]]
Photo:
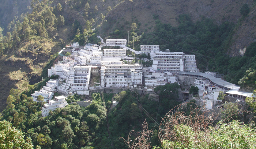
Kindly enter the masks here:
[[[107, 39], [106, 46], [119, 46], [119, 49], [102, 49], [97, 44], [86, 44], [79, 47], [78, 43], [69, 45], [70, 56], [63, 56], [63, 61], [54, 64], [48, 69], [48, 76], [59, 75], [58, 80], [49, 80], [41, 90], [31, 94], [34, 101], [39, 95], [44, 97], [45, 104], [42, 116], [48, 116], [50, 110], [63, 108], [67, 105], [65, 96], [54, 97], [54, 92], [61, 94], [89, 94], [90, 77], [93, 73], [99, 77], [98, 88], [154, 88], [158, 85], [178, 83], [173, 73], [183, 76], [196, 77], [194, 84], [200, 89], [199, 95], [203, 96], [207, 109], [211, 109], [218, 102], [219, 91], [226, 92], [228, 96], [238, 95], [245, 98], [244, 93], [238, 93], [239, 86], [230, 84], [220, 78], [216, 73], [199, 73], [196, 67], [195, 55], [186, 55], [183, 52], [161, 52], [159, 45], [141, 45], [139, 54], [150, 53], [153, 65], [143, 68], [141, 64], [125, 64], [123, 60], [132, 60], [126, 56], [126, 39]], [[60, 53], [59, 53], [60, 54]], [[94, 87], [93, 87], [94, 88]], [[92, 88], [92, 89], [93, 89]]]

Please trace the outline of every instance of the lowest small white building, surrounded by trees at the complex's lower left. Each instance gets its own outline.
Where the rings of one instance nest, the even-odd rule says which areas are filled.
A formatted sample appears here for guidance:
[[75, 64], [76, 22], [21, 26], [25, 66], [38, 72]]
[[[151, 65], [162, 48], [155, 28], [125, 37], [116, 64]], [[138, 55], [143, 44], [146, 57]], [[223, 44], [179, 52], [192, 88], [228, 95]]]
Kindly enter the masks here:
[[64, 108], [68, 105], [67, 101], [65, 100], [65, 96], [55, 96], [53, 100], [49, 100], [48, 104], [44, 104], [42, 107], [42, 116], [46, 117], [49, 115], [50, 111], [54, 111], [57, 108]]

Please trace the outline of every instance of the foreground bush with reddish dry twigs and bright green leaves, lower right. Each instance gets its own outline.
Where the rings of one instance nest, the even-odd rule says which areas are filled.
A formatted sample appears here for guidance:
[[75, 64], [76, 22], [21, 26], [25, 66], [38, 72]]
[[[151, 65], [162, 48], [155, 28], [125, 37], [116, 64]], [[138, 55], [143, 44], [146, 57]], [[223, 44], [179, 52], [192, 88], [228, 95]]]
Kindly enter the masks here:
[[[195, 108], [186, 115], [181, 111], [185, 106], [186, 103], [176, 106], [162, 118], [158, 133], [161, 146], [150, 146], [150, 136], [153, 132], [147, 127], [146, 129], [143, 127], [143, 132], [133, 142], [130, 133], [128, 140], [124, 140], [125, 143], [131, 149], [256, 148], [255, 128], [239, 121], [229, 123], [220, 121], [214, 126], [215, 113], [210, 111], [200, 113], [202, 109]], [[144, 121], [143, 126], [146, 124], [147, 122]]]

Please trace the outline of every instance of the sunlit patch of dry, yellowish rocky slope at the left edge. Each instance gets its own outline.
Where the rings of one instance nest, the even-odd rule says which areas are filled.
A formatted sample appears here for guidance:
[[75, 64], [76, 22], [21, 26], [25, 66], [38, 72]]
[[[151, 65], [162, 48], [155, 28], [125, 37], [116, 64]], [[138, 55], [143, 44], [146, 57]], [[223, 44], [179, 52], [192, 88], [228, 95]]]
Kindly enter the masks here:
[[30, 41], [22, 44], [12, 55], [0, 59], [0, 111], [6, 106], [6, 98], [12, 88], [24, 90], [22, 84], [41, 81], [41, 73], [50, 55], [61, 49], [57, 42], [50, 40]]

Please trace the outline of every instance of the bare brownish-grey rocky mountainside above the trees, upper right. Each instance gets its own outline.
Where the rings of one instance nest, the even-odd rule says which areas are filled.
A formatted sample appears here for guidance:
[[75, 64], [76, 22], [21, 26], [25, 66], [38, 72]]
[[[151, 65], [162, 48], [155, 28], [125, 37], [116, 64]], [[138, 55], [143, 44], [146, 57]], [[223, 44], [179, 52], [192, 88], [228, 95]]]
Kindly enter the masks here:
[[[249, 15], [241, 20], [240, 8], [245, 3], [251, 10]], [[106, 20], [118, 22], [118, 24], [110, 25], [109, 29], [120, 24], [130, 27], [133, 22], [137, 22], [141, 23], [140, 30], [142, 31], [146, 28], [147, 30], [153, 28], [156, 16], [162, 23], [176, 26], [178, 15], [184, 13], [189, 14], [195, 22], [202, 17], [207, 17], [214, 19], [217, 24], [225, 21], [239, 23], [233, 34], [233, 40], [229, 43], [230, 48], [225, 49], [230, 56], [239, 56], [243, 55], [242, 51], [245, 52], [249, 44], [256, 41], [255, 10], [252, 0], [133, 0], [132, 2], [125, 0], [113, 8], [106, 16]]]

